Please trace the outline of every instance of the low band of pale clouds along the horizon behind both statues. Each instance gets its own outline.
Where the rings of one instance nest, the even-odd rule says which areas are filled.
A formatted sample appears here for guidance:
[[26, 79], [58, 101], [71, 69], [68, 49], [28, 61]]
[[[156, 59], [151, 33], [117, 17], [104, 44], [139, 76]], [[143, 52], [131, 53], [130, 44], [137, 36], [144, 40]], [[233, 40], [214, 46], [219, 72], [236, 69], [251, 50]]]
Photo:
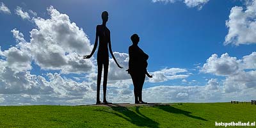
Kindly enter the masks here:
[[[1, 96], [4, 99], [0, 102], [2, 105], [95, 103], [95, 83], [79, 83], [56, 73], [47, 74], [49, 80], [46, 80], [29, 72], [5, 70], [8, 72], [1, 74], [1, 83], [10, 84], [0, 87], [4, 94]], [[143, 89], [143, 99], [147, 102], [227, 102], [232, 99], [250, 100], [256, 96], [246, 88], [237, 93], [225, 93], [224, 89], [216, 79], [211, 79], [205, 86], [154, 86]], [[133, 91], [129, 87], [108, 86], [107, 97], [111, 102], [134, 102]]]

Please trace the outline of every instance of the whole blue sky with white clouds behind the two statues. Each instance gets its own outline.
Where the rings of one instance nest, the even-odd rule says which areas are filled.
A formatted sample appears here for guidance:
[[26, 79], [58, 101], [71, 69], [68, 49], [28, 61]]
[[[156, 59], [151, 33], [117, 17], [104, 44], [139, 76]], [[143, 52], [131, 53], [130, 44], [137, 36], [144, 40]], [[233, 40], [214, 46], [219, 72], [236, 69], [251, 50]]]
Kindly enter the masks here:
[[80, 56], [92, 51], [104, 10], [124, 67], [109, 60], [110, 102], [134, 102], [125, 72], [134, 33], [154, 75], [146, 102], [255, 99], [256, 0], [1, 0], [0, 105], [94, 104], [96, 56]]

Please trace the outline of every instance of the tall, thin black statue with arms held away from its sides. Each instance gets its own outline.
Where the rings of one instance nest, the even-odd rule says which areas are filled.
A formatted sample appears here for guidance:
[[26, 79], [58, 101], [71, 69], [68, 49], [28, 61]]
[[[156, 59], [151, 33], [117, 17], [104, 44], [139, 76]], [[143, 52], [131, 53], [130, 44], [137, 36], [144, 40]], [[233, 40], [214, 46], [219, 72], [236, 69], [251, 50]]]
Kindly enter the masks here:
[[120, 67], [120, 65], [117, 63], [116, 58], [112, 52], [110, 31], [106, 26], [106, 23], [108, 22], [108, 12], [106, 12], [106, 11], [102, 12], [101, 17], [102, 17], [102, 24], [97, 25], [95, 44], [93, 46], [92, 53], [88, 56], [83, 56], [83, 58], [88, 59], [88, 58], [92, 57], [93, 53], [95, 52], [95, 50], [97, 48], [98, 38], [99, 38], [99, 49], [98, 49], [98, 53], [97, 53], [98, 76], [97, 76], [97, 102], [96, 102], [96, 104], [102, 104], [102, 102], [100, 101], [100, 80], [101, 80], [101, 74], [102, 74], [102, 66], [104, 66], [103, 103], [111, 104], [111, 102], [108, 102], [106, 99], [107, 81], [108, 81], [108, 65], [109, 65], [108, 47], [109, 47], [109, 52], [111, 53], [111, 56], [115, 60], [116, 65], [119, 68], [123, 68], [123, 67]]

